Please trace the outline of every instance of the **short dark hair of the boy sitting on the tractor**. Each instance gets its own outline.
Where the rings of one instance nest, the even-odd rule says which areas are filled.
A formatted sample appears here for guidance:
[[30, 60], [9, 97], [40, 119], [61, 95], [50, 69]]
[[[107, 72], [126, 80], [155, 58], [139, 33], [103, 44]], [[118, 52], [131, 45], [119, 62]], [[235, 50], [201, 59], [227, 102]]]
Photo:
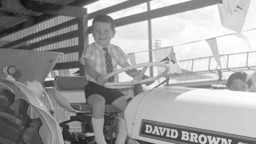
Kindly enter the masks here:
[[97, 15], [97, 16], [95, 16], [93, 21], [92, 21], [92, 25], [91, 25], [92, 29], [93, 29], [93, 26], [94, 26], [95, 22], [106, 22], [106, 23], [109, 23], [111, 25], [111, 29], [115, 30], [116, 23], [113, 20], [113, 18], [111, 18], [108, 15]]

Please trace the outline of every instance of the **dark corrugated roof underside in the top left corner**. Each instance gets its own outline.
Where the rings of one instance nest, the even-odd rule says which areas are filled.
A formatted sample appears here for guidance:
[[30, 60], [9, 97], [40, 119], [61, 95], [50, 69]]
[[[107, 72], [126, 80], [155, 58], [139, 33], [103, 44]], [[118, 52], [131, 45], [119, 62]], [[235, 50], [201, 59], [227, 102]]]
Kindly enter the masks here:
[[[66, 5], [74, 1], [75, 0], [33, 0], [33, 1], [32, 0], [27, 0], [27, 1], [0, 0], [0, 22], [1, 22], [0, 35], [4, 35], [4, 32], [11, 32], [15, 29], [19, 29], [19, 28], [22, 29], [25, 26], [29, 26], [29, 25], [33, 26], [34, 24], [37, 23], [37, 20], [40, 19], [38, 17], [43, 14], [51, 16], [50, 13], [47, 14], [47, 8], [51, 9], [52, 8], [51, 5], [46, 7], [46, 11], [43, 9], [38, 11], [37, 8], [34, 8], [34, 5], [31, 5], [31, 4], [43, 2], [42, 4], [50, 3], [50, 4]], [[85, 0], [85, 2], [87, 1], [88, 0]], [[38, 4], [41, 4], [41, 3], [38, 3]], [[62, 8], [62, 7], [56, 6], [56, 8]], [[47, 16], [45, 16], [45, 18], [47, 18]], [[44, 19], [44, 18], [41, 18], [41, 19]], [[23, 24], [24, 22], [27, 22], [27, 23]], [[34, 24], [31, 25], [31, 22], [32, 23], [34, 22]], [[13, 29], [10, 29], [10, 28], [13, 28]]]

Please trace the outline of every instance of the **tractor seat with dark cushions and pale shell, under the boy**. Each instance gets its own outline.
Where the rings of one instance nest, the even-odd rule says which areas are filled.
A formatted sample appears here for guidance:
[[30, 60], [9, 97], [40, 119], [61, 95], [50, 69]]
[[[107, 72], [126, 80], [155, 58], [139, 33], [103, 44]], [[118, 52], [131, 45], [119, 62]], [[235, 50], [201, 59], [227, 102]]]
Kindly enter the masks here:
[[[66, 111], [91, 113], [92, 107], [86, 103], [84, 86], [88, 81], [85, 76], [57, 76], [54, 78], [54, 92], [57, 103]], [[112, 104], [105, 104], [105, 112], [120, 112]]]

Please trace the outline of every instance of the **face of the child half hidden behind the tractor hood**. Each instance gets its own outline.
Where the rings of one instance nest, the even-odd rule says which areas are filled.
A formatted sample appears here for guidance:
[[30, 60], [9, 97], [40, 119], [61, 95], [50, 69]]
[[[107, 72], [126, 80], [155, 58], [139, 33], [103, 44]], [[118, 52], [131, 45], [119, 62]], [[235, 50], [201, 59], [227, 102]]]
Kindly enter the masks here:
[[249, 86], [246, 82], [241, 81], [241, 79], [234, 79], [229, 88], [231, 91], [241, 91], [248, 92]]

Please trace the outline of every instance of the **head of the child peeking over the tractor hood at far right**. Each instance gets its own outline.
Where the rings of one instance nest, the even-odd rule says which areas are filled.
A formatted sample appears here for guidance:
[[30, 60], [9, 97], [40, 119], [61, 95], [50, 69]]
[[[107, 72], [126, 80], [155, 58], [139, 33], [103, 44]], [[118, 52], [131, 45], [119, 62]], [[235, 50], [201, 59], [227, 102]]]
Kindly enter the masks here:
[[252, 80], [244, 72], [235, 72], [228, 78], [227, 86], [231, 91], [249, 92]]

